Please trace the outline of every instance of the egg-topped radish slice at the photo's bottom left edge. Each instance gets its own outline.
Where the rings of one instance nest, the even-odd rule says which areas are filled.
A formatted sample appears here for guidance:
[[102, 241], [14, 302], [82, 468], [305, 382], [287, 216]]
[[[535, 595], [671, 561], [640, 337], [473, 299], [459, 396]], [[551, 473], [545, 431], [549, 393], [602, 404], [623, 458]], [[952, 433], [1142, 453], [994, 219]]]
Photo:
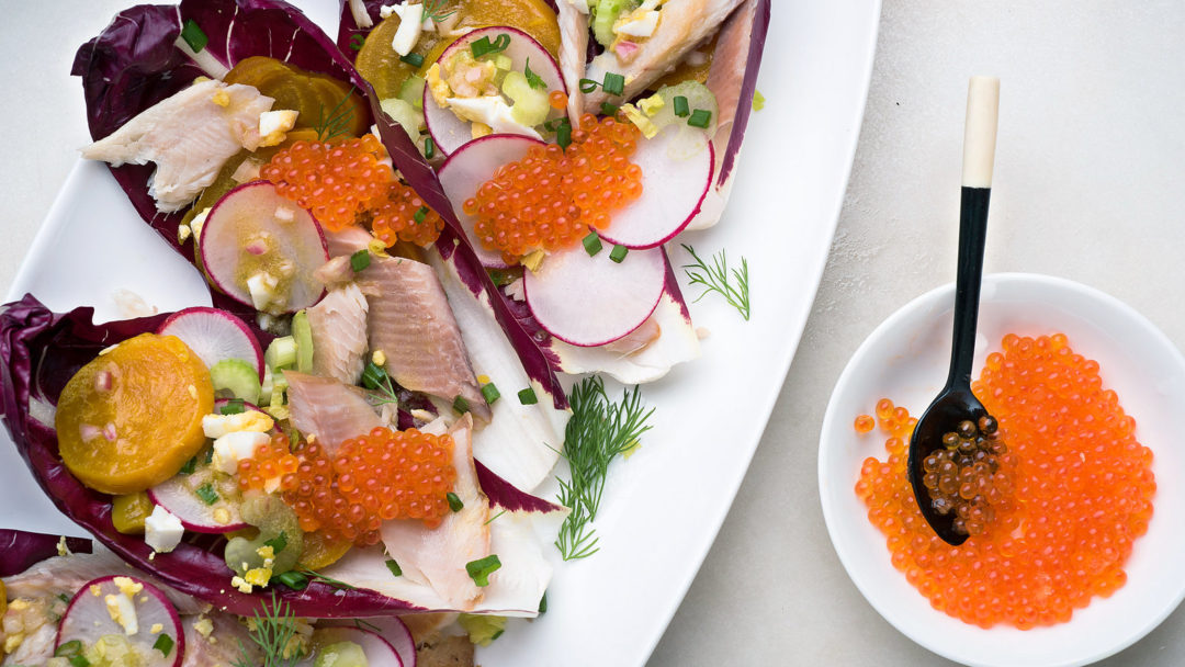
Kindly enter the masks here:
[[[107, 635], [127, 637], [145, 667], [175, 667], [185, 655], [177, 609], [160, 589], [134, 577], [100, 577], [83, 584], [62, 616], [55, 648], [78, 641], [85, 649]], [[169, 642], [161, 635], [172, 642], [167, 655], [162, 648]]]

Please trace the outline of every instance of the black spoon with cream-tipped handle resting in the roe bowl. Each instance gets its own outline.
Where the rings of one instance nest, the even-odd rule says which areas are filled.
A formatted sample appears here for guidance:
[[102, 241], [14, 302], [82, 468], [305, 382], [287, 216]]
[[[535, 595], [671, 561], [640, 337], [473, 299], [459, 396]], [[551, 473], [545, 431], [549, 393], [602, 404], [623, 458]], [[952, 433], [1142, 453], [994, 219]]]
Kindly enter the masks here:
[[922, 483], [923, 460], [944, 449], [942, 436], [957, 431], [959, 424], [979, 424], [987, 409], [971, 391], [972, 360], [975, 357], [975, 326], [979, 320], [979, 287], [984, 277], [984, 245], [987, 237], [987, 204], [992, 194], [992, 165], [995, 159], [997, 113], [1000, 79], [972, 77], [967, 91], [967, 126], [963, 134], [962, 209], [959, 218], [959, 274], [955, 282], [954, 340], [950, 373], [934, 403], [925, 409], [909, 441], [909, 483], [922, 517], [939, 537], [960, 545], [967, 534], [954, 530], [954, 512], [934, 508], [930, 492]]

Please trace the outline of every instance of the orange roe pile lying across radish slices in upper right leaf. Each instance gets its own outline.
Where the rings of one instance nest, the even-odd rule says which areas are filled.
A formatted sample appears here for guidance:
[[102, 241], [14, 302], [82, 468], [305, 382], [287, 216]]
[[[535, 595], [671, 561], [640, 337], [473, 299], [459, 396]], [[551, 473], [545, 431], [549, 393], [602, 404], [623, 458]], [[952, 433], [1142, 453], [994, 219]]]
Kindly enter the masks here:
[[534, 250], [562, 250], [603, 230], [609, 214], [642, 194], [642, 168], [629, 161], [641, 133], [633, 123], [585, 114], [566, 152], [533, 147], [502, 165], [466, 200], [482, 246], [507, 263]]

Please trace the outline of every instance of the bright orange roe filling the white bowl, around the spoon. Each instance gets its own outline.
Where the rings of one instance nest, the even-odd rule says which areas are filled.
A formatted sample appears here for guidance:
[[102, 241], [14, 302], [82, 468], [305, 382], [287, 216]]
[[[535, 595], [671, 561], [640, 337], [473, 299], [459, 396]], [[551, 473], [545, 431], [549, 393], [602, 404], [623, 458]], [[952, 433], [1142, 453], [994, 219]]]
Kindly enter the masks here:
[[890, 435], [889, 457], [865, 460], [856, 493], [888, 538], [893, 566], [935, 609], [984, 628], [1030, 629], [1069, 621], [1123, 585], [1157, 483], [1152, 451], [1103, 389], [1097, 363], [1062, 334], [1008, 334], [1003, 347], [972, 389], [1010, 443], [1000, 469], [1014, 487], [982, 534], [956, 547], [925, 524], [905, 470], [916, 419], [888, 400], [877, 421]]

